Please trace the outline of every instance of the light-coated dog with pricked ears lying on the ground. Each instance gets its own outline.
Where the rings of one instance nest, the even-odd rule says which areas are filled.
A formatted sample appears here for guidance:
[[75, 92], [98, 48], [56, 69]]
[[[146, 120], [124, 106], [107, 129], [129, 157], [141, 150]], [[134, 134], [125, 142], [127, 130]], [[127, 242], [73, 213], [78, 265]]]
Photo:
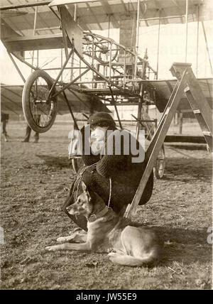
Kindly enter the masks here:
[[48, 246], [47, 251], [77, 250], [109, 253], [114, 264], [155, 266], [160, 261], [163, 242], [151, 228], [134, 227], [129, 219], [119, 217], [97, 193], [81, 182], [82, 194], [67, 207], [70, 215], [87, 217], [87, 234], [60, 237], [64, 244]]

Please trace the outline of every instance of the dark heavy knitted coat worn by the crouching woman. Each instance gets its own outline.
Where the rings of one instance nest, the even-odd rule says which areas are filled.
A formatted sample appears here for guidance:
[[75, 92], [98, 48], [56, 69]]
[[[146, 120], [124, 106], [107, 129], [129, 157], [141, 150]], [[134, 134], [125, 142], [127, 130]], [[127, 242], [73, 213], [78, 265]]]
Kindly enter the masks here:
[[[82, 134], [83, 134], [82, 130]], [[103, 198], [106, 205], [109, 203], [109, 189], [110, 183], [109, 178], [111, 178], [111, 200], [110, 207], [115, 211], [119, 212], [124, 205], [128, 205], [133, 200], [133, 196], [136, 193], [138, 188], [138, 184], [140, 183], [143, 171], [144, 171], [144, 163], [133, 163], [131, 154], [131, 148], [129, 147], [129, 155], [124, 155], [124, 141], [121, 136], [121, 154], [115, 154], [115, 141], [120, 136], [121, 131], [115, 129], [114, 132], [109, 136], [105, 143], [105, 151], [112, 151], [111, 155], [84, 155], [83, 153], [83, 161], [84, 165], [89, 166], [94, 164], [94, 166], [87, 168], [87, 170], [82, 173], [82, 180], [84, 183], [97, 192], [97, 194]], [[127, 132], [127, 131], [124, 131]], [[84, 135], [84, 134], [83, 134]], [[111, 138], [114, 137], [114, 139]], [[128, 132], [129, 136], [129, 144], [131, 135]], [[84, 137], [84, 136], [83, 136]], [[139, 143], [137, 142], [137, 146]], [[82, 167], [78, 174], [84, 170], [85, 167]], [[75, 201], [75, 197], [79, 193], [77, 193], [77, 184], [75, 183], [75, 189], [73, 191], [74, 185], [72, 185], [72, 189], [70, 191], [70, 199], [67, 200], [67, 205], [70, 205]], [[150, 200], [151, 194], [153, 191], [153, 173], [151, 173], [150, 178], [148, 179], [148, 183], [146, 184], [146, 188], [141, 197], [140, 205], [146, 204], [148, 200]], [[73, 192], [73, 194], [72, 194]], [[65, 206], [67, 206], [65, 204]]]

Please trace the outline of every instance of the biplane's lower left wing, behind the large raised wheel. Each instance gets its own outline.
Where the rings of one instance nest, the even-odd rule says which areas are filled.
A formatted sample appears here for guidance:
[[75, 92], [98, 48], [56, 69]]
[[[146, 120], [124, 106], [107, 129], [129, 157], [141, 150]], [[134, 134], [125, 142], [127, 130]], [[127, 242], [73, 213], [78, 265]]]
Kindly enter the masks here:
[[[23, 85], [1, 85], [1, 110], [5, 113], [23, 114], [22, 109]], [[75, 113], [88, 113], [93, 109], [94, 112], [110, 112], [109, 109], [99, 100], [76, 91], [66, 90], [67, 99]], [[69, 109], [62, 97], [58, 96], [58, 114], [68, 114]]]

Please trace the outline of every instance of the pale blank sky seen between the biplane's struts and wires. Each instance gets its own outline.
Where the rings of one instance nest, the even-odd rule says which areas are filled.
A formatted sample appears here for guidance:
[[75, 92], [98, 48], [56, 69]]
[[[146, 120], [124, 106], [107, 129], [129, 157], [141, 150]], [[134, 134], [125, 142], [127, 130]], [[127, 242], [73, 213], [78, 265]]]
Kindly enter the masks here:
[[[209, 53], [213, 65], [213, 21], [204, 21], [204, 26], [207, 33], [207, 41]], [[98, 32], [97, 32], [98, 33]], [[197, 23], [189, 23], [188, 28], [188, 50], [187, 62], [192, 63], [192, 69], [198, 77], [212, 77], [212, 72], [209, 65], [206, 43], [200, 23], [199, 35], [199, 60], [198, 71], [196, 71], [196, 49], [197, 49]], [[100, 33], [102, 36], [107, 36], [107, 32]], [[119, 42], [119, 31], [110, 31], [110, 37]], [[148, 49], [149, 63], [151, 67], [156, 69], [157, 66], [157, 50], [158, 50], [158, 26], [141, 27], [139, 32], [139, 49], [138, 53], [143, 57], [146, 48]], [[48, 58], [56, 58], [55, 63], [60, 66], [60, 53], [57, 50], [43, 52], [41, 55], [43, 60]], [[172, 79], [170, 67], [174, 62], [185, 62], [185, 24], [168, 24], [162, 25], [160, 29], [160, 55], [159, 55], [159, 79]], [[55, 65], [54, 63], [54, 65]], [[27, 77], [31, 73], [31, 69], [18, 63], [23, 75]], [[13, 63], [6, 53], [4, 45], [0, 42], [0, 80], [6, 85], [22, 85], [23, 81], [18, 75]]]

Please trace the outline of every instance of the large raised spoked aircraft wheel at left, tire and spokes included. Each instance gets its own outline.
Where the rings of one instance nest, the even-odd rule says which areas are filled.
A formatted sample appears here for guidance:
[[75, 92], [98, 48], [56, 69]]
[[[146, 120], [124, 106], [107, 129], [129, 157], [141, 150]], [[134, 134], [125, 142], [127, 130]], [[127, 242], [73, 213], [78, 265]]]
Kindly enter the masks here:
[[48, 131], [55, 121], [57, 99], [48, 97], [52, 85], [50, 75], [43, 70], [35, 70], [23, 87], [23, 114], [31, 129], [38, 133]]

